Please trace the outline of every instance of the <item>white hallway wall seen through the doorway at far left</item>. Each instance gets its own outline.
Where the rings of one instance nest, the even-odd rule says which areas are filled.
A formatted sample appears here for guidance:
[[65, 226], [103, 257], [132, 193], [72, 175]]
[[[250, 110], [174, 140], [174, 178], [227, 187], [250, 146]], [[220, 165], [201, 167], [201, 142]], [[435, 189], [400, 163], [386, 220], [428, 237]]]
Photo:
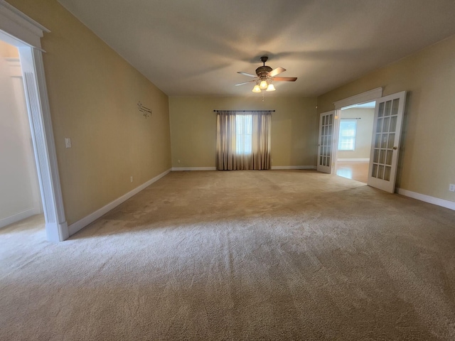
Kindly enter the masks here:
[[41, 212], [20, 63], [0, 58], [0, 227]]

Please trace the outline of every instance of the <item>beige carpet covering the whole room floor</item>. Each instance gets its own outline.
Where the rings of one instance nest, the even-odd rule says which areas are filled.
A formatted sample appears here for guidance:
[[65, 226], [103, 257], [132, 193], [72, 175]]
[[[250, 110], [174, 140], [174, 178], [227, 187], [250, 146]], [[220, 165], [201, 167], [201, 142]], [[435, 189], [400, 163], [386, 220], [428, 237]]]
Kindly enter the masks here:
[[0, 340], [455, 340], [455, 212], [346, 178], [173, 172], [44, 239], [0, 230]]

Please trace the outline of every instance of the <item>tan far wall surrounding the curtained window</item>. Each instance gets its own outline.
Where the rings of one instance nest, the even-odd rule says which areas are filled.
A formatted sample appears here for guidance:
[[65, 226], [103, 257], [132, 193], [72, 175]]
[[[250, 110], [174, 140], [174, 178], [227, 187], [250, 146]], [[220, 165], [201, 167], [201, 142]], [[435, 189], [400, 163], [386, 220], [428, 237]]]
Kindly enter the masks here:
[[169, 97], [173, 167], [215, 167], [214, 109], [275, 109], [272, 166], [316, 166], [316, 98], [258, 96]]

